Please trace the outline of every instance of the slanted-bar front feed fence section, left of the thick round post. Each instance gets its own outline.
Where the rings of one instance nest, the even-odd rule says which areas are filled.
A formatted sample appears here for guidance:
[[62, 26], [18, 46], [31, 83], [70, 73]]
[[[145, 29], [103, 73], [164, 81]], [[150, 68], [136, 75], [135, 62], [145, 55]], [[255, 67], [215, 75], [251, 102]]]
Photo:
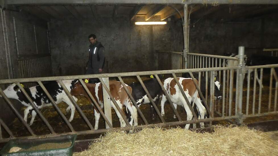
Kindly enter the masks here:
[[[6, 79], [6, 80], [0, 80], [0, 84], [4, 84], [4, 83], [16, 83], [16, 85], [20, 88], [20, 90], [23, 92], [23, 94], [28, 98], [29, 102], [31, 103], [31, 106], [34, 108], [34, 110], [36, 111], [36, 113], [40, 116], [40, 118], [42, 119], [42, 121], [44, 122], [45, 125], [47, 125], [48, 129], [50, 130], [51, 134], [44, 134], [44, 135], [36, 135], [35, 132], [32, 130], [32, 128], [24, 121], [24, 119], [22, 118], [22, 116], [20, 115], [20, 113], [18, 112], [18, 110], [16, 110], [13, 106], [13, 104], [11, 103], [11, 101], [7, 98], [7, 96], [4, 94], [2, 88], [0, 88], [0, 94], [1, 96], [4, 97], [5, 101], [7, 102], [7, 104], [13, 109], [14, 113], [16, 113], [18, 119], [20, 119], [20, 121], [22, 122], [22, 124], [24, 125], [24, 127], [27, 128], [27, 130], [30, 132], [30, 136], [24, 136], [24, 137], [16, 137], [13, 132], [8, 128], [8, 126], [1, 121], [1, 125], [3, 126], [3, 128], [5, 129], [5, 131], [7, 131], [10, 135], [11, 138], [37, 138], [37, 137], [48, 137], [48, 136], [57, 136], [57, 135], [63, 135], [63, 134], [78, 134], [78, 135], [86, 135], [86, 134], [94, 134], [94, 133], [102, 133], [102, 132], [106, 132], [106, 131], [111, 131], [111, 130], [130, 130], [130, 128], [134, 128], [134, 129], [141, 129], [144, 127], [153, 127], [153, 126], [162, 126], [162, 127], [167, 127], [167, 126], [173, 126], [173, 125], [184, 125], [184, 124], [188, 124], [188, 123], [200, 123], [200, 122], [210, 122], [210, 121], [218, 121], [218, 120], [224, 120], [224, 119], [235, 119], [238, 118], [237, 115], [231, 115], [231, 116], [223, 116], [223, 117], [213, 117], [213, 114], [210, 113], [210, 118], [208, 119], [198, 119], [198, 117], [196, 116], [196, 114], [194, 115], [195, 119], [192, 121], [184, 121], [181, 119], [181, 117], [179, 117], [179, 113], [177, 112], [177, 110], [175, 109], [174, 106], [172, 106], [173, 104], [171, 102], [169, 102], [173, 108], [173, 111], [175, 112], [175, 115], [178, 117], [178, 121], [174, 121], [174, 122], [166, 122], [165, 119], [161, 116], [161, 113], [159, 111], [159, 109], [157, 108], [157, 106], [155, 105], [154, 101], [152, 100], [152, 97], [150, 97], [150, 93], [149, 91], [146, 89], [146, 86], [144, 85], [142, 79], [140, 78], [140, 75], [155, 75], [155, 77], [157, 78], [162, 91], [165, 93], [166, 90], [163, 88], [162, 82], [158, 77], [158, 74], [172, 74], [173, 77], [175, 78], [176, 82], [178, 82], [177, 80], [177, 76], [175, 73], [184, 73], [184, 72], [211, 72], [211, 74], [214, 71], [217, 70], [228, 70], [228, 69], [238, 69], [239, 67], [224, 67], [224, 68], [200, 68], [200, 69], [177, 69], [177, 70], [162, 70], [162, 71], [144, 71], [144, 72], [130, 72], [130, 73], [111, 73], [111, 74], [97, 74], [97, 75], [75, 75], [75, 76], [59, 76], [59, 77], [39, 77], [39, 78], [23, 78], [23, 79]], [[116, 104], [115, 100], [113, 100], [114, 98], [112, 97], [107, 85], [105, 85], [105, 83], [103, 82], [103, 78], [107, 78], [107, 77], [118, 77], [119, 80], [121, 81], [121, 83], [123, 84], [123, 79], [122, 77], [125, 76], [136, 76], [138, 81], [140, 82], [140, 84], [142, 85], [142, 87], [144, 88], [145, 92], [147, 93], [147, 96], [151, 102], [151, 104], [153, 105], [153, 107], [155, 108], [156, 113], [159, 116], [159, 119], [161, 120], [161, 123], [153, 123], [150, 124], [149, 121], [146, 119], [145, 115], [142, 113], [142, 111], [139, 109], [139, 107], [136, 105], [136, 102], [134, 100], [134, 98], [131, 96], [131, 94], [128, 93], [129, 98], [131, 99], [132, 103], [134, 104], [134, 106], [137, 108], [138, 114], [140, 115], [140, 117], [143, 119], [143, 123], [141, 123], [142, 125], [140, 126], [136, 126], [136, 127], [132, 127], [127, 119], [126, 116], [124, 115], [124, 113], [121, 111], [121, 109], [119, 108], [119, 106]], [[86, 115], [84, 115], [84, 113], [82, 112], [82, 110], [80, 109], [80, 107], [78, 106], [78, 104], [74, 101], [73, 97], [70, 95], [69, 90], [67, 90], [67, 88], [65, 87], [64, 83], [62, 80], [69, 80], [69, 79], [79, 79], [80, 82], [82, 83], [83, 87], [85, 88], [85, 90], [87, 91], [88, 95], [90, 96], [90, 98], [92, 99], [94, 105], [97, 107], [98, 111], [101, 113], [101, 116], [105, 119], [106, 123], [109, 123], [109, 120], [106, 118], [106, 115], [103, 113], [103, 111], [101, 110], [101, 108], [98, 106], [96, 99], [93, 98], [92, 94], [89, 92], [88, 88], [86, 87], [86, 85], [84, 84], [84, 82], [82, 81], [82, 79], [85, 78], [98, 78], [104, 89], [107, 91], [108, 93], [108, 97], [110, 97], [112, 99], [112, 102], [114, 103], [114, 105], [117, 107], [118, 111], [121, 112], [121, 115], [123, 117], [123, 119], [125, 120], [126, 124], [128, 125], [128, 127], [112, 127], [112, 124], [109, 124], [109, 128], [107, 129], [99, 129], [99, 130], [94, 130], [92, 124], [90, 123], [90, 121], [88, 120], [88, 118], [86, 117]], [[208, 78], [208, 77], [207, 77]], [[78, 112], [82, 115], [82, 118], [86, 121], [86, 124], [88, 125], [88, 127], [90, 128], [90, 130], [82, 130], [82, 131], [76, 131], [74, 129], [74, 127], [67, 121], [65, 115], [61, 112], [61, 110], [56, 106], [57, 104], [53, 101], [52, 97], [50, 96], [50, 94], [48, 93], [48, 91], [46, 90], [46, 88], [43, 85], [43, 81], [58, 81], [59, 84], [63, 87], [63, 89], [65, 90], [65, 93], [67, 94], [67, 96], [70, 98], [71, 102], [74, 104], [74, 106], [77, 108]], [[24, 83], [24, 82], [37, 82], [39, 83], [40, 87], [42, 87], [43, 91], [45, 92], [45, 94], [48, 96], [48, 98], [51, 101], [51, 104], [57, 109], [57, 112], [59, 113], [59, 115], [63, 118], [64, 122], [67, 124], [67, 126], [70, 128], [71, 132], [63, 132], [63, 133], [58, 133], [55, 132], [55, 129], [51, 126], [51, 124], [49, 124], [49, 121], [43, 117], [42, 112], [40, 112], [35, 106], [34, 103], [32, 102], [31, 98], [28, 96], [28, 94], [26, 93], [25, 89], [22, 88], [22, 86], [20, 85], [20, 83]], [[211, 81], [212, 83], [213, 81]], [[179, 83], [178, 83], [179, 84]], [[195, 85], [197, 85], [198, 88], [198, 84], [195, 82]], [[127, 88], [125, 87], [125, 85], [123, 85], [123, 87], [125, 88], [125, 90], [127, 90]], [[181, 87], [181, 86], [179, 86]], [[199, 90], [199, 94], [201, 95], [202, 93], [200, 92], [200, 88], [198, 88]], [[105, 98], [105, 95], [103, 95]], [[166, 95], [167, 96], [167, 95]], [[187, 97], [185, 96], [185, 94], [183, 95], [185, 99], [187, 99]], [[201, 96], [202, 98], [204, 98], [204, 96]], [[169, 99], [169, 97], [168, 97]], [[170, 100], [168, 100], [170, 101]], [[188, 101], [188, 100], [186, 100]], [[109, 106], [110, 106], [110, 102], [109, 102]], [[188, 106], [190, 107], [191, 111], [193, 111], [193, 108], [191, 107], [190, 104], [188, 104]], [[213, 106], [211, 106], [213, 107]], [[206, 108], [208, 110], [212, 110], [209, 108], [208, 105], [206, 105]], [[194, 113], [193, 113], [194, 114]], [[6, 142], [11, 138], [2, 138], [0, 139], [0, 142]]]

